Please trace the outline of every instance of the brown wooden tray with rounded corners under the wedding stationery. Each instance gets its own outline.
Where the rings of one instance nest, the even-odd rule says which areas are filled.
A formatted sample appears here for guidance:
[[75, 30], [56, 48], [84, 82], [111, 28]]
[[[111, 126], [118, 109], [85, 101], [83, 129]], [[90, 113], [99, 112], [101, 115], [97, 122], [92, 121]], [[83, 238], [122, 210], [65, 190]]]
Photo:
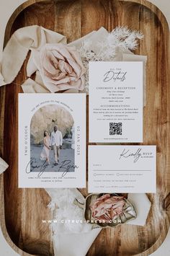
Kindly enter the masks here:
[[[150, 255], [164, 241], [170, 215], [169, 28], [166, 19], [156, 6], [144, 0], [30, 0], [9, 20], [5, 44], [15, 30], [28, 25], [55, 30], [66, 35], [68, 42], [101, 26], [111, 31], [126, 25], [145, 35], [136, 53], [148, 56], [143, 144], [157, 145], [157, 193], [148, 195], [152, 207], [146, 226], [125, 224], [104, 229], [88, 255]], [[42, 219], [51, 219], [47, 208], [50, 198], [43, 189], [17, 188], [17, 94], [22, 92], [19, 84], [26, 79], [26, 63], [12, 84], [0, 88], [0, 153], [9, 164], [9, 169], [1, 175], [1, 202], [4, 202], [1, 225], [4, 237], [19, 255], [53, 255], [50, 229], [48, 224], [42, 224]], [[86, 195], [86, 190], [82, 191]]]

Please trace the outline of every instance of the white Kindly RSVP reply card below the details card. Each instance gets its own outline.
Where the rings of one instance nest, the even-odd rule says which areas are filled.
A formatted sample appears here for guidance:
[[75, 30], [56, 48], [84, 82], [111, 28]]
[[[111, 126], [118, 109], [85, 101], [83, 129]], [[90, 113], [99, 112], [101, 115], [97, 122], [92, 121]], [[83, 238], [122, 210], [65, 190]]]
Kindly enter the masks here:
[[89, 193], [156, 193], [156, 146], [89, 146]]

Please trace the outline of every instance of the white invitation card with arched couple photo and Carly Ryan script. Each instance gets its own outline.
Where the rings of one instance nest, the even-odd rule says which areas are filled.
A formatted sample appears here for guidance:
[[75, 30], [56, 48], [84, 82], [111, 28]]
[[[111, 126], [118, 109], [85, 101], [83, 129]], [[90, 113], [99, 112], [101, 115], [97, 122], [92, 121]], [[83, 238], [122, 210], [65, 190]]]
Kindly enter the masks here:
[[19, 94], [19, 187], [86, 187], [86, 94]]

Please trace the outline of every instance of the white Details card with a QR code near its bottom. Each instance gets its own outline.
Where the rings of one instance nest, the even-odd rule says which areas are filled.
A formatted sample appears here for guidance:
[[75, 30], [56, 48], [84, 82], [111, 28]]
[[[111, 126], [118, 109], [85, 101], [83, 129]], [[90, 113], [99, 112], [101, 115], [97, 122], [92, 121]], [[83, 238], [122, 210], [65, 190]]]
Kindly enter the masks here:
[[143, 62], [89, 62], [89, 142], [143, 141]]

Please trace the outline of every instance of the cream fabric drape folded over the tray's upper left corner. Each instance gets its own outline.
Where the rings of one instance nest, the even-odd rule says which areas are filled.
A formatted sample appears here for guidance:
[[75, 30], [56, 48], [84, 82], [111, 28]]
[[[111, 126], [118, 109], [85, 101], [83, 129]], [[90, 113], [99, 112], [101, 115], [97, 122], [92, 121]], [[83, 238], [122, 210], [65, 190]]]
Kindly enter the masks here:
[[[2, 53], [0, 85], [10, 84], [19, 73], [29, 50], [39, 50], [45, 43], [66, 43], [66, 37], [37, 25], [22, 27], [14, 32]], [[31, 72], [28, 65], [28, 76]]]

